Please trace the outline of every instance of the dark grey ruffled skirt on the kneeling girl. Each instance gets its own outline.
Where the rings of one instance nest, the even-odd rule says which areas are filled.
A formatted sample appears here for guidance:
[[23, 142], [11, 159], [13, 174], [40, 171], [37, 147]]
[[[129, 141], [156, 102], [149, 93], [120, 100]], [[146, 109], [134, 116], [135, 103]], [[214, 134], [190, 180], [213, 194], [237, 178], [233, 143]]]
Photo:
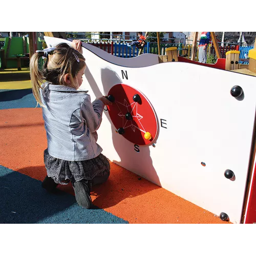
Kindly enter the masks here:
[[52, 157], [46, 149], [44, 159], [48, 177], [63, 185], [69, 181], [92, 180], [110, 171], [109, 159], [102, 154], [90, 160], [73, 162]]

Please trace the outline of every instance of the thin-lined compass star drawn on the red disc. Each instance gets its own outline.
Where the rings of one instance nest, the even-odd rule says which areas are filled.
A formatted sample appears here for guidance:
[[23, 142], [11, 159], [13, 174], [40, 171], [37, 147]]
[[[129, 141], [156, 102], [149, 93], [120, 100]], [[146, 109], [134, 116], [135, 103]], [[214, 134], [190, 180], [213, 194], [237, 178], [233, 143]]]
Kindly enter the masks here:
[[[142, 123], [141, 119], [143, 116], [141, 116], [138, 113], [138, 102], [132, 102], [131, 104], [124, 99], [123, 103], [115, 101], [117, 108], [119, 109], [118, 116], [123, 119], [123, 129], [131, 127], [131, 129], [135, 132], [136, 129], [140, 130], [143, 133], [146, 133]], [[127, 113], [131, 113], [132, 119], [128, 120], [126, 119], [125, 115]]]

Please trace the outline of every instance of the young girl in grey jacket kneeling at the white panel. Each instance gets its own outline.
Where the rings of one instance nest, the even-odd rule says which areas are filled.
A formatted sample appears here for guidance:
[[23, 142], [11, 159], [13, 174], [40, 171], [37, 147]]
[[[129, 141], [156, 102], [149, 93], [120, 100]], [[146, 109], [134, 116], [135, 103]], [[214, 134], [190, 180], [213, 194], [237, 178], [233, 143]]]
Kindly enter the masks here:
[[[82, 83], [86, 62], [81, 42], [74, 40], [56, 48], [36, 51], [30, 61], [35, 99], [42, 106], [48, 148], [44, 152], [47, 176], [42, 187], [48, 191], [70, 181], [76, 201], [92, 208], [91, 187], [105, 182], [110, 175], [109, 159], [96, 143], [104, 105], [112, 104], [105, 96], [91, 102], [88, 91], [77, 90]], [[40, 71], [38, 61], [45, 59]], [[44, 82], [46, 81], [46, 82]]]

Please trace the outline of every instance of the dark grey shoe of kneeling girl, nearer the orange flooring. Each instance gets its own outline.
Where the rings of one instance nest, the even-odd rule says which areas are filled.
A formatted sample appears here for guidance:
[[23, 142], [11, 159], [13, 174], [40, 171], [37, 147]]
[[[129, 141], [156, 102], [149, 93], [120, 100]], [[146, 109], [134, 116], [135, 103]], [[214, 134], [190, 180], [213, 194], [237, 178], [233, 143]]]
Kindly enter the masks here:
[[90, 180], [80, 180], [72, 182], [72, 186], [75, 191], [75, 197], [77, 203], [87, 209], [92, 208], [92, 199], [90, 196], [91, 192], [91, 181]]

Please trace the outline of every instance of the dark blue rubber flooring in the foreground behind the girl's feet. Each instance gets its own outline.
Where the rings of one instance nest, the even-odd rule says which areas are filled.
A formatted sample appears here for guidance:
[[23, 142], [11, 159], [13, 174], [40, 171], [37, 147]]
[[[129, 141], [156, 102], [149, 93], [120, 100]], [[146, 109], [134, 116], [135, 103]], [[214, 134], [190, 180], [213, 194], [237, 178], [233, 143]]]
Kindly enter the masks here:
[[129, 224], [103, 209], [84, 209], [61, 190], [48, 193], [41, 181], [1, 165], [0, 205], [0, 225]]

